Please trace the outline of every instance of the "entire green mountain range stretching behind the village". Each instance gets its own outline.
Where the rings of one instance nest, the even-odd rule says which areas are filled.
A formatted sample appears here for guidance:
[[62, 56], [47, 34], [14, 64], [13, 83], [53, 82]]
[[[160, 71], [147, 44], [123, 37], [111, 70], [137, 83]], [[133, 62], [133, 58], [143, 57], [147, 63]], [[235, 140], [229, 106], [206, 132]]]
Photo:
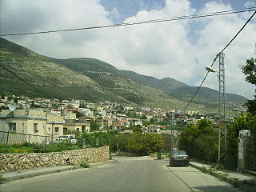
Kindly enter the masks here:
[[[118, 70], [95, 58], [48, 58], [4, 38], [0, 38], [0, 53], [3, 66], [50, 98], [78, 98], [90, 102], [109, 100], [181, 110], [197, 90], [197, 87], [174, 78], [158, 79]], [[0, 79], [0, 90], [44, 96], [6, 70], [1, 70]], [[191, 104], [189, 109], [209, 110], [202, 104], [216, 101], [218, 91], [202, 88], [194, 100], [198, 104]], [[227, 94], [227, 102], [246, 102], [246, 98]]]

